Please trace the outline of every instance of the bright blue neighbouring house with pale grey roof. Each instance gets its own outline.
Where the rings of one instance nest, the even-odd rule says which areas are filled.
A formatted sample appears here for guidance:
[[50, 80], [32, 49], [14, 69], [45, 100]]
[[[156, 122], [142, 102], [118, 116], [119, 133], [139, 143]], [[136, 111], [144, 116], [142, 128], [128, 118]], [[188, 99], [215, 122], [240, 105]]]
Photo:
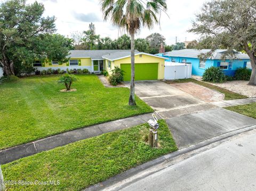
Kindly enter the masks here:
[[222, 54], [226, 49], [217, 49], [213, 55], [200, 61], [198, 55], [207, 53], [210, 49], [181, 49], [179, 51], [171, 51], [166, 53], [159, 53], [157, 55], [166, 57], [166, 62], [179, 62], [192, 64], [192, 74], [196, 76], [203, 76], [205, 69], [209, 67], [220, 67], [227, 76], [234, 76], [238, 68], [250, 68], [250, 58], [247, 54], [240, 52], [236, 53], [236, 60], [221, 60]]

